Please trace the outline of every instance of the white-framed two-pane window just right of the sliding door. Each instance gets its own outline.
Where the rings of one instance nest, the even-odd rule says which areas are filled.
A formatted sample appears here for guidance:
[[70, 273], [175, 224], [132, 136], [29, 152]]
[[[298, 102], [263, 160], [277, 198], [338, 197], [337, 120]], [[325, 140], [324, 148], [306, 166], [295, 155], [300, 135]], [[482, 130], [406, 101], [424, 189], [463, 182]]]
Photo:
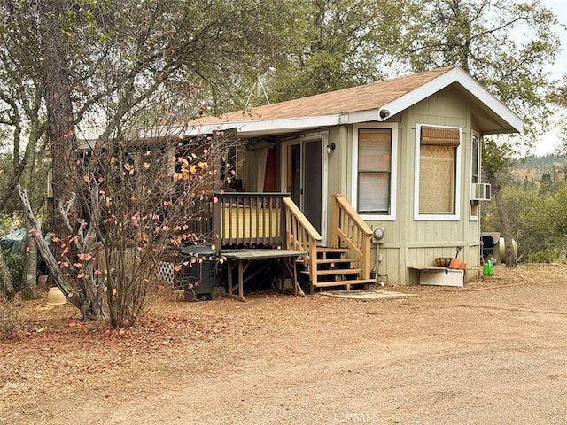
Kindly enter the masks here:
[[355, 126], [353, 204], [365, 219], [395, 220], [397, 128]]

